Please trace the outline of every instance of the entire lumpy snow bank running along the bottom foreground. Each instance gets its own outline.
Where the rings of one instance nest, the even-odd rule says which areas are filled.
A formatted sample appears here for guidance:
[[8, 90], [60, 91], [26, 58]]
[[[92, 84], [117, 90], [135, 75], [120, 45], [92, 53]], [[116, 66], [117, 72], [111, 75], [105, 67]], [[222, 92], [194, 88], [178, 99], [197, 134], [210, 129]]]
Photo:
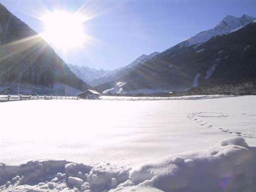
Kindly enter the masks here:
[[204, 151], [172, 154], [132, 169], [53, 160], [2, 164], [0, 191], [254, 192], [255, 169], [255, 147], [234, 137]]

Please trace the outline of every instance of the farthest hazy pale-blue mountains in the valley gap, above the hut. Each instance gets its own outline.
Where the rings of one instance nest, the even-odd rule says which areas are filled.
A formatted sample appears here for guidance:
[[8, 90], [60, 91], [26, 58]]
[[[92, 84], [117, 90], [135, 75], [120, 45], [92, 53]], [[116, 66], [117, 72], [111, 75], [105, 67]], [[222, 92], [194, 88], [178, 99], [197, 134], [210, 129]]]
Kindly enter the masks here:
[[82, 79], [84, 82], [89, 83], [90, 81], [93, 81], [96, 78], [102, 77], [105, 74], [109, 73], [109, 70], [96, 70], [96, 69], [91, 69], [90, 67], [86, 66], [77, 66], [77, 65], [72, 65], [72, 64], [67, 64], [70, 70], [76, 74], [76, 76], [79, 79]]

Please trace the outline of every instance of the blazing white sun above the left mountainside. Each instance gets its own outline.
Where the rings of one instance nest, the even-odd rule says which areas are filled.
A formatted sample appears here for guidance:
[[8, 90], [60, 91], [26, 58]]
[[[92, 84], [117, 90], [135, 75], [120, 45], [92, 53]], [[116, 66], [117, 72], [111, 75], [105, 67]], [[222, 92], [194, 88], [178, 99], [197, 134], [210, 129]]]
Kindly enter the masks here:
[[86, 41], [84, 15], [66, 11], [48, 12], [41, 16], [44, 32], [41, 36], [54, 47], [67, 51], [81, 48]]

